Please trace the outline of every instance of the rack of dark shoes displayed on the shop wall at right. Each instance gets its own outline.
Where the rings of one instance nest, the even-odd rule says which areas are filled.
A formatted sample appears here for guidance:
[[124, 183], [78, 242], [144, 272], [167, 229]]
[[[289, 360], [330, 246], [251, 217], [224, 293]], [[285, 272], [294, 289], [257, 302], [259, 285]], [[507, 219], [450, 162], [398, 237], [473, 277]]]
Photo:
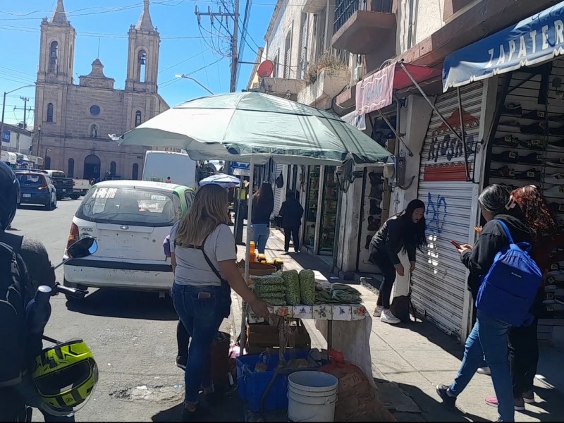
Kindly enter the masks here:
[[[505, 98], [491, 140], [486, 185], [497, 183], [508, 190], [537, 186], [558, 226], [563, 228], [564, 101], [551, 92], [547, 104], [538, 104], [541, 75], [523, 83], [528, 75], [516, 74], [511, 82], [511, 87], [516, 88]], [[536, 86], [539, 88], [534, 90]], [[517, 92], [523, 93], [521, 98]], [[553, 250], [551, 254], [561, 250]], [[550, 341], [553, 326], [564, 326], [564, 262], [553, 266], [548, 274], [544, 305], [544, 314], [539, 319], [539, 339]]]

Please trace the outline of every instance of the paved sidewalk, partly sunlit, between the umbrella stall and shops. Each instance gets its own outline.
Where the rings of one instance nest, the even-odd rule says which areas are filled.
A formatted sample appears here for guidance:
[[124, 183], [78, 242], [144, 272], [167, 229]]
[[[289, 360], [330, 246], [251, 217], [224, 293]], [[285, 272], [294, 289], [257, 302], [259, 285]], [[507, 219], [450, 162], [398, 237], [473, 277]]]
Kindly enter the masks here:
[[[238, 255], [244, 257], [244, 247], [238, 247]], [[283, 255], [283, 235], [271, 230], [266, 247], [267, 257], [280, 257], [284, 269], [309, 268], [317, 270], [329, 281], [329, 266], [319, 257], [302, 252], [300, 255]], [[340, 283], [350, 283], [334, 280]], [[357, 283], [362, 302], [372, 313], [376, 305], [376, 293]], [[238, 298], [238, 297], [237, 297]], [[239, 307], [236, 309], [236, 307]], [[240, 331], [240, 302], [234, 302], [235, 328]], [[371, 317], [368, 317], [371, 318]], [[237, 321], [238, 319], [238, 321]], [[312, 348], [326, 348], [321, 333], [313, 321], [304, 321], [312, 338]], [[484, 398], [494, 396], [491, 378], [476, 374], [465, 392], [458, 398], [460, 411], [446, 410], [436, 395], [436, 384], [448, 384], [456, 374], [462, 359], [463, 347], [431, 324], [417, 321], [411, 324], [389, 325], [373, 319], [370, 338], [372, 376], [379, 388], [380, 399], [393, 412], [398, 421], [405, 422], [484, 422], [495, 421], [497, 410], [486, 405]], [[554, 365], [563, 365], [561, 360]], [[552, 364], [551, 363], [551, 364]], [[539, 364], [539, 372], [546, 363]], [[558, 422], [564, 419], [564, 394], [556, 388], [535, 380], [539, 403], [527, 404], [525, 412], [515, 412], [517, 422]]]

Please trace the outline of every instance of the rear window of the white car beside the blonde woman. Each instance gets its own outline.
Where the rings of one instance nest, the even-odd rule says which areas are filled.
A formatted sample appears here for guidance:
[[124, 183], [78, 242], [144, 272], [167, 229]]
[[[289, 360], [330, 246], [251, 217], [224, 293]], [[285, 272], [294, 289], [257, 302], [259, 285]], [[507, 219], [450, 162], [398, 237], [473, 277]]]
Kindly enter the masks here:
[[82, 200], [76, 216], [97, 223], [171, 226], [180, 213], [180, 200], [172, 192], [96, 187]]

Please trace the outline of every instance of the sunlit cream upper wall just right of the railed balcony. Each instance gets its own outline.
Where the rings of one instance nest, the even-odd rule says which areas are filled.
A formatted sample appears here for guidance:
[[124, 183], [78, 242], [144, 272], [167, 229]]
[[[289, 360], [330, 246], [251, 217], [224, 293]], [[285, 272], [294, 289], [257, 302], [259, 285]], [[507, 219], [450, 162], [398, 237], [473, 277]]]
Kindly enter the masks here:
[[[443, 22], [444, 4], [444, 0], [398, 1], [397, 54], [410, 49], [410, 47], [429, 37], [433, 32], [445, 25]], [[410, 8], [413, 11], [412, 15], [410, 15]], [[410, 27], [412, 35], [411, 43], [409, 44]]]

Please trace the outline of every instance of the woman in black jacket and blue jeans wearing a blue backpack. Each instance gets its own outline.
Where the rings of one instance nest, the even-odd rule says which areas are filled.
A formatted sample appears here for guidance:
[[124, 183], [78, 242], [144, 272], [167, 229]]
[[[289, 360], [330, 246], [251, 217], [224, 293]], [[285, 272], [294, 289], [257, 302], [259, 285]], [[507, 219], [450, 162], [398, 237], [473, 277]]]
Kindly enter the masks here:
[[[530, 243], [533, 238], [532, 231], [522, 219], [510, 215], [517, 214], [512, 209], [515, 202], [510, 193], [501, 185], [489, 185], [478, 198], [482, 216], [486, 224], [480, 233], [477, 243], [460, 245], [460, 259], [470, 270], [469, 283], [482, 283], [482, 276], [488, 274], [498, 252], [510, 244], [508, 234], [503, 228], [508, 228], [508, 233], [514, 243]], [[503, 222], [503, 224], [501, 223]], [[473, 292], [479, 288], [470, 287]], [[513, 386], [509, 370], [508, 336], [511, 325], [492, 317], [484, 309], [477, 308], [477, 319], [470, 332], [464, 350], [462, 364], [458, 374], [450, 386], [439, 384], [436, 392], [443, 403], [450, 408], [455, 408], [457, 396], [464, 391], [472, 380], [482, 360], [491, 368], [491, 380], [498, 398], [498, 415], [501, 422], [514, 422], [515, 411], [513, 405]]]

